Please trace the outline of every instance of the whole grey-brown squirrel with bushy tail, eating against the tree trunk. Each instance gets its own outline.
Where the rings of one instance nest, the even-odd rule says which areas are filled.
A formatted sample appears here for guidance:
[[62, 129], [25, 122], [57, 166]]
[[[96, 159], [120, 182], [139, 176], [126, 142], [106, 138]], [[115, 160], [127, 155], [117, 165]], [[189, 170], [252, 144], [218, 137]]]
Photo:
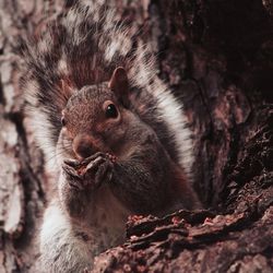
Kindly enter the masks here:
[[56, 190], [39, 232], [46, 272], [92, 269], [124, 241], [131, 214], [200, 207], [181, 104], [110, 3], [75, 1], [21, 46], [26, 115], [54, 159]]

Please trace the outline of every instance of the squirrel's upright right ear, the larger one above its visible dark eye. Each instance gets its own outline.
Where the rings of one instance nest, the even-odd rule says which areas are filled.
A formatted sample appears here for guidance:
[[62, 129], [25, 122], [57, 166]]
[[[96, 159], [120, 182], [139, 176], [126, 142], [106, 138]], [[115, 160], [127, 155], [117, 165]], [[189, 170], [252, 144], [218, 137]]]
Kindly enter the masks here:
[[122, 98], [127, 97], [128, 95], [128, 88], [129, 88], [129, 81], [127, 76], [127, 72], [123, 68], [119, 67], [116, 68], [112, 75], [111, 80], [108, 83], [108, 87], [114, 91], [114, 93]]

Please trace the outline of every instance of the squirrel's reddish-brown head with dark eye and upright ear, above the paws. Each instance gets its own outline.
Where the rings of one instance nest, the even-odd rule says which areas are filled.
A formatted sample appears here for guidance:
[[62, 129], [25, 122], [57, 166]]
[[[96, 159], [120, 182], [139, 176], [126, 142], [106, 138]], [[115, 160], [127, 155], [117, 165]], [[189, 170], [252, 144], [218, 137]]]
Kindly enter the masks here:
[[84, 86], [75, 92], [62, 110], [59, 146], [78, 159], [96, 152], [115, 154], [130, 122], [128, 94], [123, 68], [114, 71], [108, 84]]

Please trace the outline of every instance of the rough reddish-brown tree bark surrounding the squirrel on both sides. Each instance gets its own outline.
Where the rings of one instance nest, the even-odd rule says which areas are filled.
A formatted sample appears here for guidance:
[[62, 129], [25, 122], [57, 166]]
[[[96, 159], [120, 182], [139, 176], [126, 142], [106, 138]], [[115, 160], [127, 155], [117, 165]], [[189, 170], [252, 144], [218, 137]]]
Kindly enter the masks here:
[[[68, 1], [69, 2], [69, 1]], [[158, 73], [194, 134], [195, 189], [207, 211], [133, 216], [128, 241], [95, 272], [272, 272], [273, 2], [117, 1], [152, 43]], [[0, 272], [38, 272], [35, 230], [49, 174], [25, 126], [12, 49], [62, 1], [0, 2]]]

